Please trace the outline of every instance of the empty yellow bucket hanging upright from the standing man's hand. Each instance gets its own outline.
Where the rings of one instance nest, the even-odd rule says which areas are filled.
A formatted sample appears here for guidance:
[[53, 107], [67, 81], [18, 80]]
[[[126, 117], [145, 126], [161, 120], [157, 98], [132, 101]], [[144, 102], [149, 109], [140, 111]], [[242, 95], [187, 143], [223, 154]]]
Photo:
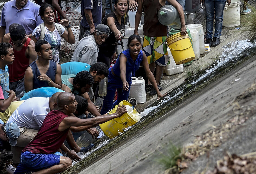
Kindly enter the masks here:
[[179, 32], [166, 38], [166, 41], [176, 65], [187, 63], [195, 58], [192, 40], [188, 34], [181, 35]]

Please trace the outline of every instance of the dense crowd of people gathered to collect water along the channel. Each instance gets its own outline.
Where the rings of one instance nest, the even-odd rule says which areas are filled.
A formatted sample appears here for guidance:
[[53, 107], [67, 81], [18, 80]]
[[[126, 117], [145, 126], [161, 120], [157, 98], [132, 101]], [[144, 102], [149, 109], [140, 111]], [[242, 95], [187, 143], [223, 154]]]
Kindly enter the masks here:
[[[181, 34], [187, 34], [185, 0], [167, 1], [178, 10]], [[59, 173], [69, 168], [72, 160], [80, 160], [77, 152], [87, 152], [94, 146], [78, 146], [74, 132], [86, 131], [97, 139], [99, 124], [127, 112], [125, 106], [119, 105], [116, 113], [107, 115], [120, 101], [128, 100], [132, 77], [140, 65], [149, 79], [146, 92], [156, 94], [158, 99], [165, 96], [160, 92], [160, 81], [163, 67], [169, 63], [168, 28], [158, 21], [157, 11], [166, 1], [115, 0], [113, 12], [106, 8], [102, 19], [100, 0], [82, 0], [80, 41], [71, 61], [61, 65], [61, 39], [75, 43], [71, 25], [59, 1], [35, 2], [11, 0], [2, 9], [0, 147], [11, 149], [15, 173]], [[128, 39], [128, 49], [117, 55], [117, 43], [125, 35], [124, 15], [128, 8], [137, 10], [134, 34]], [[142, 44], [138, 27], [143, 9]], [[221, 32], [218, 27], [216, 32]], [[206, 42], [211, 34], [209, 31]], [[98, 83], [106, 78], [107, 94], [103, 103], [95, 106], [93, 101], [102, 98]]]

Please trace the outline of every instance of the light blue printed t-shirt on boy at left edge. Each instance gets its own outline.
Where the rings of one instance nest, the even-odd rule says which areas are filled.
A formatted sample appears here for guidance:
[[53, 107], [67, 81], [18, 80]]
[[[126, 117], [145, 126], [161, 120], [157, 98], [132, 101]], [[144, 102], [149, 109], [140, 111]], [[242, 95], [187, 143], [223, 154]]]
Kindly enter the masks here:
[[4, 70], [0, 68], [0, 86], [2, 87], [2, 91], [4, 93], [4, 98], [8, 99], [8, 94], [6, 91], [9, 91], [9, 73], [8, 66], [5, 65]]

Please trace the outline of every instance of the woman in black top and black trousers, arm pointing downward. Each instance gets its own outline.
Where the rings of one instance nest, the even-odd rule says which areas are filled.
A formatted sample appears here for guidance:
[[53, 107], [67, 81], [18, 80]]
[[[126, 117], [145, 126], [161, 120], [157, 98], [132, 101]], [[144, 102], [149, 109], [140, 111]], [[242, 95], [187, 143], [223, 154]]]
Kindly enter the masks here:
[[[97, 62], [106, 63], [108, 67], [111, 65], [111, 60], [114, 60], [116, 55], [117, 42], [120, 41], [125, 34], [124, 31], [124, 14], [127, 11], [127, 0], [116, 0], [115, 11], [104, 17], [102, 24], [107, 25], [112, 34], [99, 47]], [[122, 36], [123, 35], [123, 36]]]

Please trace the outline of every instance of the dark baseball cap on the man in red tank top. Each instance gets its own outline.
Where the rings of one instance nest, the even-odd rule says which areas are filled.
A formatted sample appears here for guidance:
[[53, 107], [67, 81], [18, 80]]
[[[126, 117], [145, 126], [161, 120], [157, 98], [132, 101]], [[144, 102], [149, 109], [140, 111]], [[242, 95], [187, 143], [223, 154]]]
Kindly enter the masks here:
[[26, 35], [26, 31], [24, 27], [17, 23], [13, 23], [10, 25], [9, 33], [10, 33], [11, 39], [14, 41], [22, 40]]

